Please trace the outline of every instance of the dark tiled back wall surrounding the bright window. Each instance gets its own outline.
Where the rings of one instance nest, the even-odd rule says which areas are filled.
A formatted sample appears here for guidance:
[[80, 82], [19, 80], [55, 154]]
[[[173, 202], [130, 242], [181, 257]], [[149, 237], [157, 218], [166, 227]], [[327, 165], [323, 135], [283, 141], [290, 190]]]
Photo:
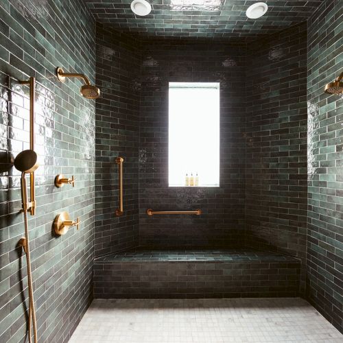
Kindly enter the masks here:
[[[239, 246], [244, 235], [245, 47], [188, 40], [142, 44], [139, 241], [152, 247]], [[168, 187], [169, 82], [220, 82], [220, 187]], [[191, 130], [191, 128], [189, 128]], [[204, 137], [206, 139], [206, 137]], [[204, 156], [211, 163], [211, 156]], [[149, 217], [147, 209], [203, 214]]]

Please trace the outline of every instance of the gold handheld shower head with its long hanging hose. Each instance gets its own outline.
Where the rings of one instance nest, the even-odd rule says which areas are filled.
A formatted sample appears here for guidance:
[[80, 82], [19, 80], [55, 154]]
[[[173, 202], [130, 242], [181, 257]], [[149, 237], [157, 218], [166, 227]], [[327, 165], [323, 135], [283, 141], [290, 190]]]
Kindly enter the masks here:
[[34, 150], [24, 150], [21, 153], [19, 153], [14, 159], [14, 167], [21, 171], [21, 202], [23, 204], [25, 237], [22, 237], [19, 240], [19, 246], [23, 247], [27, 261], [27, 288], [29, 289], [29, 343], [32, 342], [32, 326], [34, 328], [34, 343], [37, 343], [38, 339], [36, 325], [36, 310], [34, 309], [34, 287], [32, 285], [31, 259], [29, 251], [29, 226], [27, 223], [27, 210], [29, 208], [32, 209], [33, 204], [32, 202], [28, 202], [27, 200], [27, 184], [25, 176], [26, 174], [30, 174], [30, 176], [32, 176], [34, 171], [38, 168], [37, 159], [38, 157]]

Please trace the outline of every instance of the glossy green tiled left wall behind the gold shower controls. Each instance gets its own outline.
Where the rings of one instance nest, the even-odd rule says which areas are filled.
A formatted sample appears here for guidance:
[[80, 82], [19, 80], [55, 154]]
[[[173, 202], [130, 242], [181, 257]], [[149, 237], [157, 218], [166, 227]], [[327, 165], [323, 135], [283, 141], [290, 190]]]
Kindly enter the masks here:
[[[6, 162], [29, 148], [28, 89], [36, 76], [36, 216], [29, 216], [38, 342], [67, 342], [91, 299], [94, 226], [95, 102], [79, 80], [61, 84], [56, 66], [95, 79], [95, 26], [82, 1], [0, 3], [0, 342], [24, 342], [27, 276], [16, 244], [23, 236], [20, 174]], [[54, 187], [57, 174], [75, 187]], [[80, 230], [56, 237], [54, 217], [80, 217]], [[25, 300], [25, 306], [23, 306]]]

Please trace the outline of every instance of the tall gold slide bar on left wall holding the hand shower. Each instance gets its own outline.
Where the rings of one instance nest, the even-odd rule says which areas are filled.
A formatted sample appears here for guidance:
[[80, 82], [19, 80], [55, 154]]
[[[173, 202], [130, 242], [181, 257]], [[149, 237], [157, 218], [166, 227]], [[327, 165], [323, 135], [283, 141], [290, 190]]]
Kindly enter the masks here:
[[[27, 81], [20, 81], [20, 84], [29, 85], [29, 148], [34, 150], [34, 103], [36, 101], [36, 78], [31, 77]], [[36, 214], [36, 192], [34, 189], [34, 171], [29, 174], [30, 206], [29, 213]]]

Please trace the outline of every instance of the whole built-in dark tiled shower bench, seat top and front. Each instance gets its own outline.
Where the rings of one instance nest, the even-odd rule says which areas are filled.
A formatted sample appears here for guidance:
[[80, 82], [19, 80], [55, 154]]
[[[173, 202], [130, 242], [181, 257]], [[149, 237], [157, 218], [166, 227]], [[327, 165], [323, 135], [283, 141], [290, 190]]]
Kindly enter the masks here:
[[300, 260], [254, 250], [131, 250], [95, 259], [95, 298], [298, 296]]

